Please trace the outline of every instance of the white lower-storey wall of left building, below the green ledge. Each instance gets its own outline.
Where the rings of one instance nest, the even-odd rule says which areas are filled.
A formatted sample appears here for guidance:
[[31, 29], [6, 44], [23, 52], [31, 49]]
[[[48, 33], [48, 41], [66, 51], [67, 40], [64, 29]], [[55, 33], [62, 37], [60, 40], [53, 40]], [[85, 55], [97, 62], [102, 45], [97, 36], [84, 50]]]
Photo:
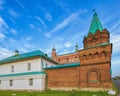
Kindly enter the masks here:
[[[29, 86], [29, 79], [33, 79], [33, 85]], [[13, 80], [13, 86], [10, 86], [10, 80]], [[45, 74], [31, 76], [16, 76], [1, 78], [0, 90], [38, 90], [45, 89]]]

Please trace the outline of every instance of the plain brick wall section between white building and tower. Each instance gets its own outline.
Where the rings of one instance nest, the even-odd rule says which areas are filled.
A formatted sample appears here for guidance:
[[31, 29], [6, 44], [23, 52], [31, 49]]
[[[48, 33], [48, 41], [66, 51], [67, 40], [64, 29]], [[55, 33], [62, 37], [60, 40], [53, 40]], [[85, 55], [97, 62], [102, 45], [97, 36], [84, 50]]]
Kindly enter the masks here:
[[49, 69], [48, 87], [78, 87], [79, 67]]

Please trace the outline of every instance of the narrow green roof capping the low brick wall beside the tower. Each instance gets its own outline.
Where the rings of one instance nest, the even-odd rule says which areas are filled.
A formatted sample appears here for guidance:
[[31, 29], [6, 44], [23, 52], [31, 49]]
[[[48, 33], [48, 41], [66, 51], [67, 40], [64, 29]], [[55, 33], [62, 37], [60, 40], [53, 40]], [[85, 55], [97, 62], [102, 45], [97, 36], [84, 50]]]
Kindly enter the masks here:
[[52, 66], [52, 67], [46, 67], [44, 69], [45, 70], [46, 69], [57, 69], [57, 68], [67, 68], [67, 67], [76, 67], [76, 66], [80, 66], [80, 62], [60, 64], [60, 65], [55, 65], [55, 66]]

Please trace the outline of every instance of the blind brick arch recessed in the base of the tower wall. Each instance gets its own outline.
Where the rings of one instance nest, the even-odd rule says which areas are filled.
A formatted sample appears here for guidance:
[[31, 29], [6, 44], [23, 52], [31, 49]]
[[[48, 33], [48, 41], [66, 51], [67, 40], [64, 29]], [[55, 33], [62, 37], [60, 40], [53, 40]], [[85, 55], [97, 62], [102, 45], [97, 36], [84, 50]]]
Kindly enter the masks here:
[[88, 87], [100, 86], [100, 72], [98, 69], [90, 69], [87, 73]]

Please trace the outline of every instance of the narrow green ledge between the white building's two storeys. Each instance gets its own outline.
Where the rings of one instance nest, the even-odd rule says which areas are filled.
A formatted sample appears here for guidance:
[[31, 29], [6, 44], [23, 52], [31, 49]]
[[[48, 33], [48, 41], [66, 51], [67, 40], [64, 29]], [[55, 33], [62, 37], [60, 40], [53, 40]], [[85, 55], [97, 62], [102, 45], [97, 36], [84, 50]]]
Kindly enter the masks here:
[[35, 74], [46, 74], [44, 71], [34, 71], [34, 72], [24, 72], [24, 73], [13, 73], [13, 74], [3, 74], [0, 77], [9, 77], [9, 76], [24, 76], [24, 75], [35, 75]]

